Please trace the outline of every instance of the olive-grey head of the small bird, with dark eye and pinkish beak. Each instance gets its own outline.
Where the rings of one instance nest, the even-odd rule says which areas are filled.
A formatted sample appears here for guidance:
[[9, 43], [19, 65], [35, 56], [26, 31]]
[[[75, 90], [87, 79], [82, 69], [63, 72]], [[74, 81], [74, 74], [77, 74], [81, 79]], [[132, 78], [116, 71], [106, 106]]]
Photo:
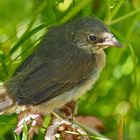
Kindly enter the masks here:
[[72, 25], [74, 27], [73, 41], [80, 48], [94, 53], [109, 46], [123, 48], [108, 27], [96, 18], [79, 18]]

